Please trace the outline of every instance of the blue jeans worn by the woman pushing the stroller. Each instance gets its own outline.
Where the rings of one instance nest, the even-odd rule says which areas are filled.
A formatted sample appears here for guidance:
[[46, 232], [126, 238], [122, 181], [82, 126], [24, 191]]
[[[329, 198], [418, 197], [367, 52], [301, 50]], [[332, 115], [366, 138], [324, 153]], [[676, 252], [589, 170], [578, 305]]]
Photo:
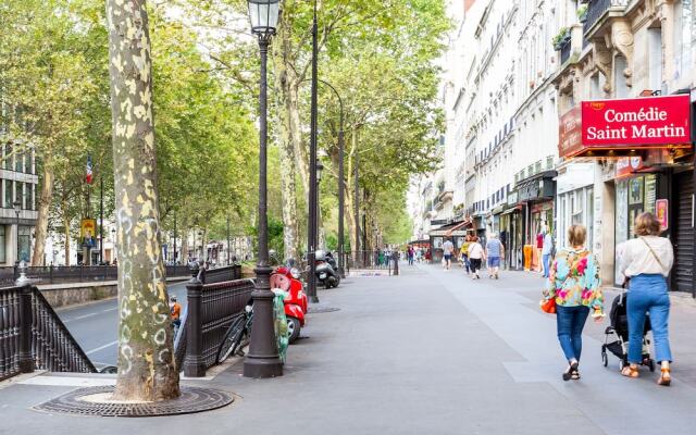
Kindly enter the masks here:
[[629, 362], [641, 363], [643, 359], [643, 332], [645, 313], [650, 313], [655, 358], [658, 362], [672, 361], [668, 323], [670, 296], [667, 279], [660, 274], [641, 274], [631, 277], [626, 313], [629, 314]]

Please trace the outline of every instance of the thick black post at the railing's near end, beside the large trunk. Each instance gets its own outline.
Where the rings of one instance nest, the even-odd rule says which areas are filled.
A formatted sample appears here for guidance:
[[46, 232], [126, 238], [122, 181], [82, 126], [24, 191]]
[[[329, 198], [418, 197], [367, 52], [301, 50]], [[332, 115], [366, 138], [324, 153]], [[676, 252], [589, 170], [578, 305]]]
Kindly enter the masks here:
[[186, 314], [186, 358], [184, 358], [184, 374], [187, 377], [204, 377], [206, 360], [202, 356], [202, 319], [201, 306], [203, 283], [199, 278], [202, 272], [198, 263], [191, 263], [189, 270], [191, 278], [186, 284], [188, 308]]

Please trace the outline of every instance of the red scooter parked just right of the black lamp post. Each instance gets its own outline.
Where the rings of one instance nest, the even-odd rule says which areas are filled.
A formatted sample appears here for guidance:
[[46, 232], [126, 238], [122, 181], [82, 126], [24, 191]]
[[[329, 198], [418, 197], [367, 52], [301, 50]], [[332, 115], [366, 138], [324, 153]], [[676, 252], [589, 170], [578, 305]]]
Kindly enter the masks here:
[[285, 316], [290, 343], [300, 336], [307, 313], [307, 295], [299, 277], [300, 272], [289, 266], [278, 266], [271, 275], [271, 288], [279, 288], [288, 294], [285, 297]]

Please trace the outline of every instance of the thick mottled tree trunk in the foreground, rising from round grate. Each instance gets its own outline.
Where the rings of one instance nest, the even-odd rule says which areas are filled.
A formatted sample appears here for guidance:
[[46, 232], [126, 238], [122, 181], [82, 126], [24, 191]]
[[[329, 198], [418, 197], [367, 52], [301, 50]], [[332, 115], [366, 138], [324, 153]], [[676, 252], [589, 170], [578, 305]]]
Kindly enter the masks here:
[[179, 395], [164, 281], [146, 0], [107, 0], [119, 247], [119, 376], [113, 398]]

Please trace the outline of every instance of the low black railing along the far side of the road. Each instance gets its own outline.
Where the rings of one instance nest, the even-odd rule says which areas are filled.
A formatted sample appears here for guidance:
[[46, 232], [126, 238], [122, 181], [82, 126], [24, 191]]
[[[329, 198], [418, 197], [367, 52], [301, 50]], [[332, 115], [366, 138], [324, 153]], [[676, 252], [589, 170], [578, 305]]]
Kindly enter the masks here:
[[[235, 266], [219, 268], [217, 270], [231, 270]], [[241, 269], [239, 269], [241, 272]], [[224, 275], [226, 272], [220, 272]], [[65, 265], [65, 266], [28, 266], [26, 275], [33, 284], [69, 284], [115, 281], [119, 277], [119, 269], [112, 265]], [[188, 276], [187, 265], [167, 265], [166, 276]], [[18, 266], [0, 268], [0, 285], [12, 286], [20, 277]]]

